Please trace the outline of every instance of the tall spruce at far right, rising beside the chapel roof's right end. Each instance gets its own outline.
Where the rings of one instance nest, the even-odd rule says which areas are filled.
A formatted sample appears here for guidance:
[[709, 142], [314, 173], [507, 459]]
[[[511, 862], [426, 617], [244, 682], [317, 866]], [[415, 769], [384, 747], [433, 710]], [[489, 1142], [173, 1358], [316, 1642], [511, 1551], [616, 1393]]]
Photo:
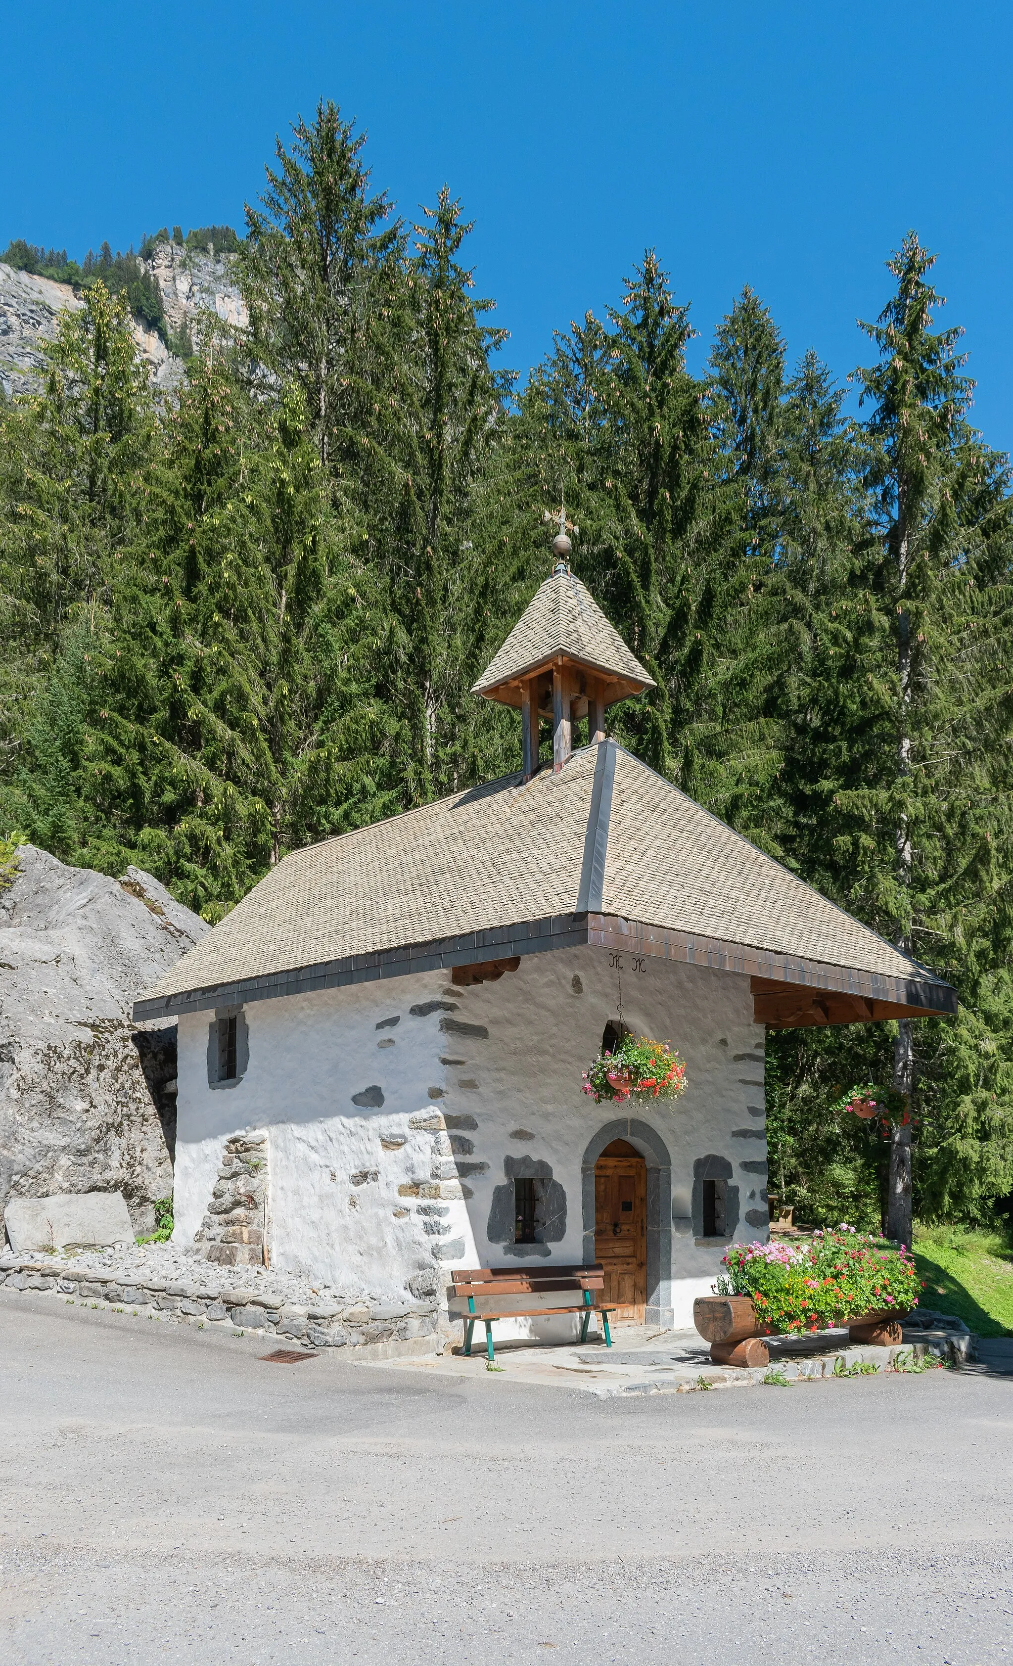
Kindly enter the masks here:
[[[840, 506], [831, 493], [821, 516], [811, 580], [791, 563], [800, 653], [786, 688], [786, 798], [805, 878], [950, 976], [965, 1003], [951, 1021], [898, 1025], [893, 1083], [913, 1120], [893, 1130], [886, 1223], [910, 1243], [915, 1120], [926, 1208], [946, 1196], [981, 1208], [1011, 1173], [1003, 1058], [1013, 1015], [1003, 1016], [1000, 966], [1013, 596], [1008, 466], [966, 420], [960, 332], [931, 328], [940, 298], [913, 235], [890, 270], [896, 293], [868, 327], [881, 357], [858, 372], [873, 412], [846, 465], [861, 501], [840, 536], [853, 490], [845, 476]], [[866, 1070], [860, 1033], [853, 1048]]]

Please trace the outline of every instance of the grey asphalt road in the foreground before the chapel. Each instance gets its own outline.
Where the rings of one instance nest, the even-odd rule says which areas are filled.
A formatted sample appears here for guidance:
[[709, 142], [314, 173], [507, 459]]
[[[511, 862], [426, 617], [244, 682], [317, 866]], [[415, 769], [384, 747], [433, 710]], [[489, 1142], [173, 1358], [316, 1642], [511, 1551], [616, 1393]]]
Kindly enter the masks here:
[[0, 1661], [1013, 1661], [1013, 1378], [596, 1401], [0, 1293]]

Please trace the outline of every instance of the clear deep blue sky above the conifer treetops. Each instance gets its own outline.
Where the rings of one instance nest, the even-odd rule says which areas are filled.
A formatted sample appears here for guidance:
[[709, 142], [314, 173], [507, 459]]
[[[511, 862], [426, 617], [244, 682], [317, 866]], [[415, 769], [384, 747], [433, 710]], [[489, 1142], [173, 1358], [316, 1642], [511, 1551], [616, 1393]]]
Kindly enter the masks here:
[[653, 245], [703, 362], [743, 283], [845, 375], [915, 227], [1013, 446], [1013, 7], [980, 0], [2, 0], [0, 247], [242, 228], [320, 97], [412, 215], [450, 183], [521, 372]]

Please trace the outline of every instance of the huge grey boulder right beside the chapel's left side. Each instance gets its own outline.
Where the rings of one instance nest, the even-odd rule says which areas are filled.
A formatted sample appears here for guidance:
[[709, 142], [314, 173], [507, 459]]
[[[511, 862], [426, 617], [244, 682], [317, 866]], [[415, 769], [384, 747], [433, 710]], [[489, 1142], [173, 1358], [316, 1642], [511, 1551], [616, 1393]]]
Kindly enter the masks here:
[[110, 880], [20, 846], [0, 893], [0, 1210], [118, 1190], [152, 1230], [172, 1195], [175, 1025], [130, 1008], [205, 931], [140, 868]]

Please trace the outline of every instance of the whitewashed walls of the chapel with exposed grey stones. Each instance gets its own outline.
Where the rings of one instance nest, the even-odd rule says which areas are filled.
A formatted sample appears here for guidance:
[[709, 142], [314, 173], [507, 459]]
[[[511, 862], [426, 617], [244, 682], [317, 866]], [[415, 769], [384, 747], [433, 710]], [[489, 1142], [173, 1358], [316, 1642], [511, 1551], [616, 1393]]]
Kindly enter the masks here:
[[[530, 955], [518, 971], [468, 990], [453, 988], [447, 973], [422, 973], [255, 1001], [245, 1008], [248, 1068], [230, 1088], [212, 1090], [207, 1080], [213, 1015], [180, 1018], [177, 1236], [188, 1243], [200, 1226], [222, 1141], [267, 1128], [277, 1268], [403, 1298], [407, 1278], [425, 1268], [502, 1266], [503, 1245], [490, 1245], [487, 1225], [493, 1188], [505, 1181], [505, 1156], [551, 1165], [566, 1193], [566, 1233], [550, 1246], [551, 1259], [580, 1263], [581, 1158], [606, 1123], [635, 1116], [656, 1131], [671, 1158], [670, 1299], [675, 1323], [690, 1324], [693, 1298], [710, 1289], [723, 1253], [693, 1238], [695, 1160], [716, 1155], [731, 1163], [730, 1185], [740, 1198], [735, 1236], [766, 1236], [765, 1226], [745, 1220], [746, 1210], [763, 1211], [766, 1180], [741, 1166], [766, 1156], [763, 1028], [753, 1025], [746, 976], [651, 958], [635, 971], [628, 955], [623, 965], [626, 1023], [638, 1035], [671, 1041], [686, 1060], [688, 1086], [675, 1101], [598, 1106], [581, 1093], [581, 1071], [616, 1010], [606, 950]], [[427, 1001], [455, 1008], [410, 1013]], [[377, 1030], [395, 1016], [395, 1026]], [[442, 1018], [483, 1026], [488, 1038], [443, 1033]], [[355, 1106], [352, 1096], [370, 1086], [382, 1088], [383, 1106]], [[473, 1118], [477, 1126], [450, 1133], [418, 1126], [435, 1113], [448, 1123]], [[516, 1140], [516, 1130], [535, 1138]], [[463, 1141], [473, 1151], [465, 1145], [455, 1158], [450, 1145]], [[468, 1171], [475, 1163], [488, 1166]], [[427, 1196], [432, 1191], [440, 1196]], [[433, 1206], [447, 1213], [435, 1216]], [[427, 1223], [442, 1231], [427, 1233]], [[448, 1258], [452, 1246], [458, 1253]]]

